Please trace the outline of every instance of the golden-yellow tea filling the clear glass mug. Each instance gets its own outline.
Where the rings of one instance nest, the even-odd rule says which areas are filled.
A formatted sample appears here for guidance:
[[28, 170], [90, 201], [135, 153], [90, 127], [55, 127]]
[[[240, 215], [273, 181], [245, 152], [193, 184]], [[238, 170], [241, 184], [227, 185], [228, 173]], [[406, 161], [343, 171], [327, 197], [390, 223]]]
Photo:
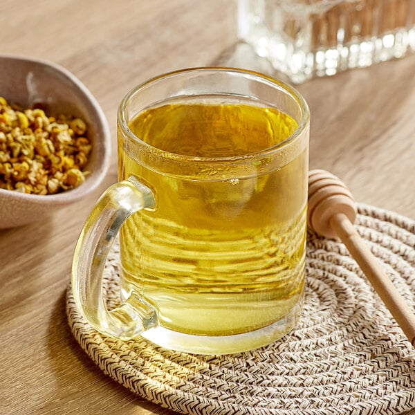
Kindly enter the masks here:
[[[232, 164], [280, 145], [297, 122], [260, 103], [199, 97], [149, 107], [129, 120], [129, 129], [166, 153], [158, 162], [119, 134], [120, 180], [136, 176], [156, 198], [154, 210], [122, 225], [123, 297], [139, 293], [158, 310], [161, 326], [192, 335], [246, 333], [294, 308], [298, 314], [307, 146], [294, 156], [282, 151]], [[194, 168], [175, 161], [166, 173], [180, 156], [194, 158]]]

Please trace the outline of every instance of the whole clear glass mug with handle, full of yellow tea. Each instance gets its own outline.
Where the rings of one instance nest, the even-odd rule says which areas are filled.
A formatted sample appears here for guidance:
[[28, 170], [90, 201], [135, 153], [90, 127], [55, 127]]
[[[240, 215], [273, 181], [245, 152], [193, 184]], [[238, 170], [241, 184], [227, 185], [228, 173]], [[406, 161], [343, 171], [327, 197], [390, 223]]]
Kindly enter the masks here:
[[[188, 353], [282, 337], [302, 313], [308, 106], [236, 68], [193, 68], [133, 89], [118, 109], [120, 182], [75, 248], [75, 301], [98, 331]], [[120, 233], [121, 304], [102, 274]]]

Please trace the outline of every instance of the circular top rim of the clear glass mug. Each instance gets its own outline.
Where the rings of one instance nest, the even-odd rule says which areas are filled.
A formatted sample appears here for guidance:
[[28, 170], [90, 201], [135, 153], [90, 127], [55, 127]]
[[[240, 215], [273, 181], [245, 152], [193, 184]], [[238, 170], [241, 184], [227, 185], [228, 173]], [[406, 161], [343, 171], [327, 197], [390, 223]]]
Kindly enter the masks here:
[[[154, 147], [153, 145], [150, 145], [149, 143], [141, 140], [138, 136], [136, 136], [133, 131], [129, 128], [129, 120], [127, 120], [126, 113], [129, 109], [129, 106], [131, 104], [131, 101], [133, 98], [140, 94], [145, 88], [156, 84], [156, 82], [163, 81], [163, 80], [169, 80], [172, 77], [180, 76], [180, 75], [186, 75], [186, 74], [192, 74], [192, 73], [231, 73], [233, 75], [243, 75], [245, 77], [249, 77], [254, 80], [258, 80], [261, 82], [264, 82], [268, 84], [268, 86], [273, 86], [275, 89], [279, 89], [279, 91], [282, 91], [284, 93], [287, 93], [291, 98], [294, 98], [294, 100], [297, 102], [299, 109], [301, 111], [301, 120], [298, 122], [298, 127], [293, 131], [293, 133], [286, 138], [286, 140], [279, 142], [277, 145], [274, 145], [272, 147], [266, 147], [265, 149], [261, 149], [259, 151], [253, 151], [248, 154], [241, 154], [239, 156], [223, 156], [223, 157], [201, 157], [201, 156], [189, 156], [189, 155], [183, 155], [183, 154], [177, 154], [172, 153], [169, 151], [165, 151], [162, 149], [159, 149], [158, 147]], [[225, 93], [225, 95], [228, 95], [228, 93]], [[213, 96], [213, 94], [212, 94]], [[246, 98], [252, 98], [252, 97], [246, 97]], [[163, 102], [155, 102], [157, 103], [163, 103]], [[278, 109], [277, 106], [271, 104], [268, 102], [270, 107], [273, 107], [275, 109]], [[145, 109], [145, 108], [143, 108]], [[143, 110], [141, 109], [141, 111]], [[150, 78], [149, 80], [142, 82], [141, 84], [138, 84], [138, 86], [135, 86], [133, 89], [131, 89], [126, 95], [124, 95], [124, 98], [121, 100], [119, 106], [118, 106], [118, 126], [122, 129], [122, 132], [128, 136], [133, 142], [136, 142], [138, 145], [142, 146], [144, 149], [147, 149], [148, 151], [153, 154], [153, 156], [159, 156], [160, 158], [169, 159], [172, 161], [180, 162], [180, 163], [246, 163], [248, 160], [252, 160], [255, 158], [264, 158], [267, 156], [273, 156], [277, 154], [279, 151], [282, 151], [286, 147], [289, 147], [293, 144], [293, 142], [296, 142], [297, 140], [302, 138], [304, 130], [308, 128], [309, 122], [310, 122], [310, 109], [308, 108], [308, 104], [306, 100], [303, 98], [302, 94], [297, 91], [293, 86], [290, 84], [287, 84], [286, 82], [282, 82], [280, 80], [277, 80], [269, 75], [265, 75], [263, 73], [259, 73], [256, 71], [251, 71], [249, 69], [243, 69], [243, 68], [232, 68], [232, 67], [224, 67], [224, 66], [198, 66], [194, 68], [185, 68], [185, 69], [179, 69], [177, 71], [170, 71], [167, 73], [163, 73], [161, 75], [157, 75], [155, 77]]]

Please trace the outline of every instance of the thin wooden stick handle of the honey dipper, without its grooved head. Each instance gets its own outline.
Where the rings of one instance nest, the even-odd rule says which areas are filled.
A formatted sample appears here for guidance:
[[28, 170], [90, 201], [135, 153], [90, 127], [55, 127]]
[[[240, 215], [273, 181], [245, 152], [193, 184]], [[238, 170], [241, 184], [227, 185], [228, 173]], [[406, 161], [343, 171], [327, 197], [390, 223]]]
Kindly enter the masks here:
[[415, 347], [415, 315], [405, 299], [398, 293], [389, 277], [382, 270], [378, 261], [362, 240], [349, 218], [342, 212], [333, 214], [330, 225], [338, 234], [351, 256], [356, 260], [376, 293], [389, 308], [391, 315], [403, 330], [409, 342]]

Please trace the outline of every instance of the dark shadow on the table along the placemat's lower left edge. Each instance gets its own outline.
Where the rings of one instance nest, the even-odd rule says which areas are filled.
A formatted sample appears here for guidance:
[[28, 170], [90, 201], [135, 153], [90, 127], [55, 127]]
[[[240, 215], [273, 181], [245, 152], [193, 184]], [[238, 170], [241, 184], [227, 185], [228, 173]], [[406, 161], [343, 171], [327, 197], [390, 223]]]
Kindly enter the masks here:
[[49, 365], [55, 388], [44, 410], [48, 414], [171, 414], [147, 402], [105, 375], [77, 343], [66, 318], [66, 291], [57, 298], [48, 326]]

